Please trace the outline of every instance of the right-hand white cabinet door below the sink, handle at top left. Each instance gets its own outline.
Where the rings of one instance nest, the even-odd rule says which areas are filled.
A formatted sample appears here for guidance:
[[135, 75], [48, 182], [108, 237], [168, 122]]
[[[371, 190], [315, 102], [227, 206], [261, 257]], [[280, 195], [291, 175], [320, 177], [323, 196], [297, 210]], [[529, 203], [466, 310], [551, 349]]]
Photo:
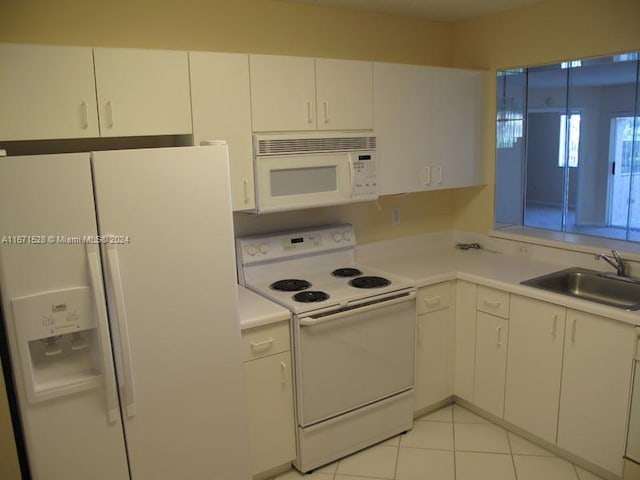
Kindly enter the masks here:
[[633, 325], [567, 310], [557, 443], [617, 475], [635, 343]]

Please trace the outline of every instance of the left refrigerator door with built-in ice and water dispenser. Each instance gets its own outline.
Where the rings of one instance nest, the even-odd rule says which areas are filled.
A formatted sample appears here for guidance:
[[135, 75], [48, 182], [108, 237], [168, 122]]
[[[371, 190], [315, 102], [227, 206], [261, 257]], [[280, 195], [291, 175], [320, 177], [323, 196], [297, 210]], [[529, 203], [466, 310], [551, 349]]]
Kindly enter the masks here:
[[34, 480], [129, 478], [96, 233], [89, 154], [0, 158], [0, 290]]

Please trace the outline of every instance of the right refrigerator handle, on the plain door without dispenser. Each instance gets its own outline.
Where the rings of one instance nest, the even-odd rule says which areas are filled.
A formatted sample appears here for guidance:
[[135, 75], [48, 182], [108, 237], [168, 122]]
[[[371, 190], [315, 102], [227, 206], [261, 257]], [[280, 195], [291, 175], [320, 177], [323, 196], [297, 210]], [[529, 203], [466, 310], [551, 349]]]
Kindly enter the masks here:
[[115, 300], [115, 311], [118, 321], [118, 333], [120, 337], [120, 355], [121, 365], [124, 370], [124, 403], [127, 411], [127, 417], [133, 417], [136, 414], [135, 392], [133, 390], [133, 366], [131, 364], [131, 346], [129, 344], [129, 326], [127, 322], [127, 310], [124, 302], [124, 290], [122, 288], [122, 277], [120, 276], [120, 261], [118, 259], [118, 250], [114, 243], [108, 243], [107, 262], [109, 263], [109, 274], [111, 277], [111, 285], [113, 287], [113, 296]]

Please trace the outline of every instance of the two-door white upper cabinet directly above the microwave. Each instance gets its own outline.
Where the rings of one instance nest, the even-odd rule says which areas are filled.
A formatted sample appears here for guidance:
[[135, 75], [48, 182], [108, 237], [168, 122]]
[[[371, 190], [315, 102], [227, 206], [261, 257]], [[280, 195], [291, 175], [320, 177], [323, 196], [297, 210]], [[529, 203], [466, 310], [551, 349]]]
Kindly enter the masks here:
[[251, 55], [255, 132], [370, 130], [373, 73], [369, 62]]

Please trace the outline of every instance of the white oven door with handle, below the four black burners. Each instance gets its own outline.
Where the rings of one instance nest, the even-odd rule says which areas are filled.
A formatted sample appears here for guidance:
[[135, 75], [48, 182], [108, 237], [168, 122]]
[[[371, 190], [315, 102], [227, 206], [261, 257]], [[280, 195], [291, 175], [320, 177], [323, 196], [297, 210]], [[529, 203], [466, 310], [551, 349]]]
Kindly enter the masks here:
[[415, 295], [295, 317], [300, 426], [413, 388]]

